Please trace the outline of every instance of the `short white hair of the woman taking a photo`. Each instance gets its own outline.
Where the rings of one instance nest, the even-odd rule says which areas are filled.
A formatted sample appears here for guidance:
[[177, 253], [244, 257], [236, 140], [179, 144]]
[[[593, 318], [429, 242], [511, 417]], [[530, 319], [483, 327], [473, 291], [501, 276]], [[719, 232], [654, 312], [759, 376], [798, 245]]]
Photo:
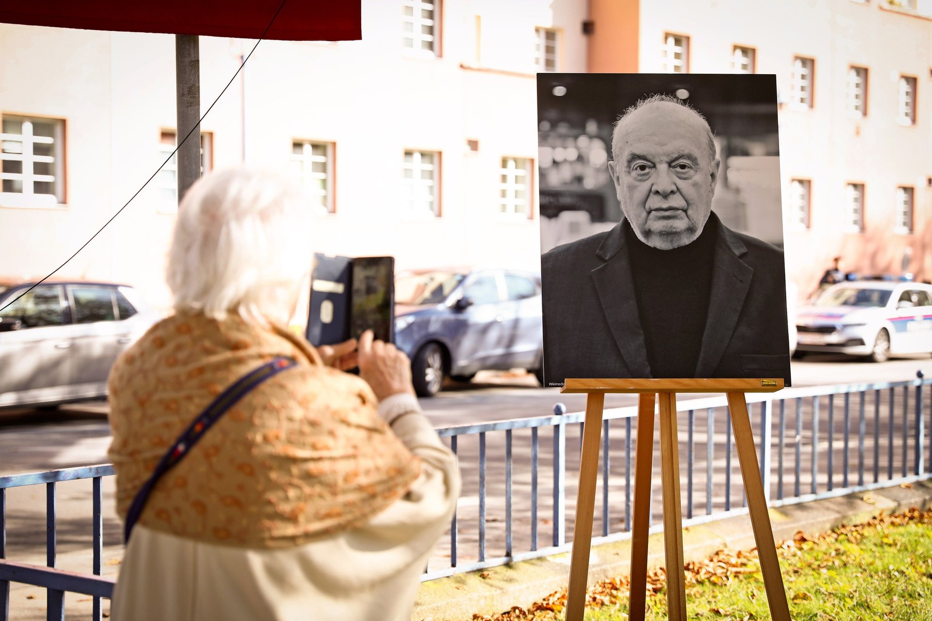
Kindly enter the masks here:
[[166, 279], [178, 312], [287, 323], [313, 261], [310, 201], [296, 182], [244, 167], [208, 173], [178, 208]]

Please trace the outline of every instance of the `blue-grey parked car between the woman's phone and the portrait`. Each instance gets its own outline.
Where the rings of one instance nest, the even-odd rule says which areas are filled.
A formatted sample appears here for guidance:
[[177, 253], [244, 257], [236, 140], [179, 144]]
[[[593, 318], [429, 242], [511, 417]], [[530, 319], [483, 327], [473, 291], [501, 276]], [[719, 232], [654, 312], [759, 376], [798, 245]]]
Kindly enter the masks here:
[[541, 277], [489, 269], [434, 269], [395, 280], [395, 343], [414, 386], [432, 397], [445, 377], [524, 368], [542, 379]]

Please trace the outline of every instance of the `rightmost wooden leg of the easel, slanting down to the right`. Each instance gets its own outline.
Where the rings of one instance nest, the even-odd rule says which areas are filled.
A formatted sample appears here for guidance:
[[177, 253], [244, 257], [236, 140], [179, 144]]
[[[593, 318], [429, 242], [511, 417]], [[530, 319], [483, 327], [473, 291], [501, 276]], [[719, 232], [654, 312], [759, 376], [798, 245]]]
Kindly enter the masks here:
[[757, 452], [754, 449], [754, 435], [750, 420], [747, 418], [747, 401], [744, 393], [728, 393], [728, 407], [732, 412], [734, 428], [734, 445], [738, 450], [741, 463], [741, 476], [745, 480], [747, 509], [751, 515], [751, 527], [754, 541], [757, 543], [758, 556], [761, 559], [761, 574], [764, 588], [767, 590], [767, 604], [774, 621], [790, 621], [787, 605], [787, 592], [780, 575], [780, 562], [776, 557], [774, 531], [767, 513], [767, 501], [763, 494], [761, 470], [758, 466]]

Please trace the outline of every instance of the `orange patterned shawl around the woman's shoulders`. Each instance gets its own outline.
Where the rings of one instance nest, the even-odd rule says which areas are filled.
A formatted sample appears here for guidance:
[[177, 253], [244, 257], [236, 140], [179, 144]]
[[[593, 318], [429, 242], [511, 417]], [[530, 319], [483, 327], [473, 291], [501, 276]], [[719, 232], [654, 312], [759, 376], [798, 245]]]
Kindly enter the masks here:
[[286, 329], [176, 315], [110, 374], [108, 454], [121, 518], [185, 426], [276, 356], [298, 365], [226, 412], [158, 482], [138, 523], [212, 544], [294, 547], [359, 526], [404, 495], [420, 460], [379, 418], [362, 379], [323, 366]]

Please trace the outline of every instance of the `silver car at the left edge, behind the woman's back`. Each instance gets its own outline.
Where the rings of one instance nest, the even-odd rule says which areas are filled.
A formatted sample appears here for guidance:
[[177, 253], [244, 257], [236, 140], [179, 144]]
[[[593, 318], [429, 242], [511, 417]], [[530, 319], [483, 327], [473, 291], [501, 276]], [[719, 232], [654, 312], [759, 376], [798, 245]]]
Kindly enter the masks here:
[[107, 394], [117, 356], [158, 314], [128, 285], [0, 280], [0, 407], [55, 405]]

